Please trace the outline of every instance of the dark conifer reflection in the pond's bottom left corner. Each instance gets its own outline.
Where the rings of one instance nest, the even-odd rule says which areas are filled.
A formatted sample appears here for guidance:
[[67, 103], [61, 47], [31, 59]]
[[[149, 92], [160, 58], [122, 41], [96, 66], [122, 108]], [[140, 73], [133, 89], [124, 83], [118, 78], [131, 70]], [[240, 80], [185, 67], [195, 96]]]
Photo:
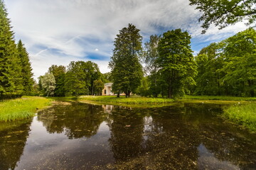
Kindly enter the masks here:
[[[18, 125], [17, 125], [18, 124]], [[0, 131], [0, 169], [15, 169], [16, 163], [23, 154], [26, 145], [28, 132], [30, 131], [31, 120], [18, 122], [1, 123], [1, 126], [8, 127]]]

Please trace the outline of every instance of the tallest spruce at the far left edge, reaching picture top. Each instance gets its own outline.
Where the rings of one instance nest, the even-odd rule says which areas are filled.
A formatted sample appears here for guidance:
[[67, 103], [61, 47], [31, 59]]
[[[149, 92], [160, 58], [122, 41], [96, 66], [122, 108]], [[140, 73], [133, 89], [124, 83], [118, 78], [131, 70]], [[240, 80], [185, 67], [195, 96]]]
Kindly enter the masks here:
[[4, 2], [0, 0], [0, 98], [21, 96], [23, 92], [21, 62], [10, 23]]

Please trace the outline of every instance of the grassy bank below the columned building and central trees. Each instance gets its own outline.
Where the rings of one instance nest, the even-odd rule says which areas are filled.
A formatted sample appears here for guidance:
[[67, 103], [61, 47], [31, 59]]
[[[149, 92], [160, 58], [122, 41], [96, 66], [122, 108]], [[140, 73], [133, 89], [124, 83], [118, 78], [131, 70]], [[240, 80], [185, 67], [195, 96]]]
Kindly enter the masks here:
[[134, 104], [145, 104], [145, 103], [171, 103], [174, 100], [171, 98], [146, 98], [140, 96], [132, 96], [126, 98], [125, 96], [80, 96], [78, 100], [83, 101], [97, 101], [103, 103], [134, 103]]

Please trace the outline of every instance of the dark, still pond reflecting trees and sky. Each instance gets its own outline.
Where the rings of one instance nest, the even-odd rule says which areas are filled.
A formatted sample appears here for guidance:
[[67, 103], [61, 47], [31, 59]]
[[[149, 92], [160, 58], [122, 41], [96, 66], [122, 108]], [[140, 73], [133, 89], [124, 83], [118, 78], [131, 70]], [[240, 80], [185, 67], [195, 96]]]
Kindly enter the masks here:
[[221, 119], [222, 107], [60, 101], [1, 123], [0, 169], [256, 169], [256, 135]]

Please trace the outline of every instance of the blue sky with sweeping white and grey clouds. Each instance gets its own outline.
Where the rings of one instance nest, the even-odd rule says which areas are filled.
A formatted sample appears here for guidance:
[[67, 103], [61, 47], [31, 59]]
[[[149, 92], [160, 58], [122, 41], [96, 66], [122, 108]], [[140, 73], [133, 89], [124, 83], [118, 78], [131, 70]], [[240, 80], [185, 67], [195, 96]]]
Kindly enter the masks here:
[[201, 35], [201, 16], [188, 0], [6, 0], [15, 40], [21, 39], [30, 55], [34, 77], [52, 64], [91, 60], [102, 73], [112, 55], [115, 36], [128, 23], [141, 30], [143, 42], [152, 34], [181, 28], [191, 34], [196, 55], [210, 42], [241, 30], [243, 23], [223, 30], [211, 27]]

